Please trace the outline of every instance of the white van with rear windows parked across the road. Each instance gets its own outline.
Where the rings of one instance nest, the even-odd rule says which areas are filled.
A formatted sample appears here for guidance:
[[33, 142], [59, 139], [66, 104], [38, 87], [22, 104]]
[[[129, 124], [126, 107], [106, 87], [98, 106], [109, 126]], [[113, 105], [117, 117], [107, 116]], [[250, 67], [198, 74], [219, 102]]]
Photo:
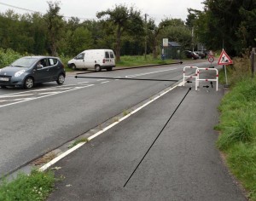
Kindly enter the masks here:
[[112, 71], [115, 58], [112, 49], [87, 49], [67, 62], [67, 66], [75, 69], [93, 69], [96, 72], [107, 69]]

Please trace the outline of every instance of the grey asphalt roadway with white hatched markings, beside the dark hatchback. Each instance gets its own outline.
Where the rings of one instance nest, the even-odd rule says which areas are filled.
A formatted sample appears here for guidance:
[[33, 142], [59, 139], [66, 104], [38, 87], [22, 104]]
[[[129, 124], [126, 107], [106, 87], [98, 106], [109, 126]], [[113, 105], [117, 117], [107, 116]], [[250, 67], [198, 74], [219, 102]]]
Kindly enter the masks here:
[[[209, 63], [194, 65], [208, 66]], [[31, 90], [0, 89], [0, 174], [20, 169], [44, 153], [176, 84], [118, 78], [178, 80], [183, 78], [183, 66], [186, 65], [90, 73], [90, 76], [116, 80], [67, 76], [63, 86], [44, 83]]]

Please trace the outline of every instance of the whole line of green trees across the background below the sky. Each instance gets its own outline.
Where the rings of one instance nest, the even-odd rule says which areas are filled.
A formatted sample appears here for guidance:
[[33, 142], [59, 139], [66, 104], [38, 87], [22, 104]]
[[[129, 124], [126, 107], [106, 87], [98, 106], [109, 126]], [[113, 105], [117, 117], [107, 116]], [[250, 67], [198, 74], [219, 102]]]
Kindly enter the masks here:
[[[73, 56], [84, 49], [114, 49], [120, 55], [160, 55], [162, 38], [183, 49], [228, 49], [241, 55], [255, 47], [256, 0], [206, 0], [204, 10], [188, 9], [186, 21], [163, 19], [159, 25], [134, 7], [115, 5], [96, 13], [98, 20], [65, 20], [59, 2], [48, 2], [46, 14], [0, 14], [0, 48], [20, 54]], [[192, 30], [194, 35], [192, 37]], [[145, 46], [147, 49], [145, 49]]]

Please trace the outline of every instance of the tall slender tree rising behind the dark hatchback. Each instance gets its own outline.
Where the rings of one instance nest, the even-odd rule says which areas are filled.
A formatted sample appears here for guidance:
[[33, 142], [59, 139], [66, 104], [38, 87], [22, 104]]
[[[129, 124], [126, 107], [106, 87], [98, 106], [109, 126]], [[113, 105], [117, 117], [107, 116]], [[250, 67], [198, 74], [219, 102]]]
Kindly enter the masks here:
[[61, 40], [64, 26], [63, 16], [59, 14], [61, 9], [59, 4], [59, 2], [48, 2], [49, 10], [47, 14], [44, 14], [44, 20], [49, 33], [48, 37], [51, 55], [57, 55], [57, 43]]

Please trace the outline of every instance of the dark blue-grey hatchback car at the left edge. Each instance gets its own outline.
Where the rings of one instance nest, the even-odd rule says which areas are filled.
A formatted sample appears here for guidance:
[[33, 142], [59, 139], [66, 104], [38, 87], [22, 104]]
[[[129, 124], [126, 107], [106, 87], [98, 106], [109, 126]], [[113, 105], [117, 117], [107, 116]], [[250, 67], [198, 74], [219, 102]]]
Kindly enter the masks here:
[[56, 81], [62, 84], [65, 77], [64, 65], [58, 57], [25, 56], [0, 69], [0, 86], [31, 89], [35, 83]]

